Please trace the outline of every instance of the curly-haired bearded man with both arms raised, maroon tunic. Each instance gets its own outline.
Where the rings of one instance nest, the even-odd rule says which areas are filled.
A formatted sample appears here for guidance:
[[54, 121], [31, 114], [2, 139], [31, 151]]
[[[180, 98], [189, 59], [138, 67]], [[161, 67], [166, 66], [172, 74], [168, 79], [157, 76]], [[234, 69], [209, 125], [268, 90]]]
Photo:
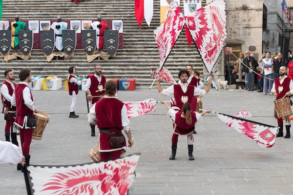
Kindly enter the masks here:
[[[174, 94], [176, 105], [174, 105], [172, 108], [177, 111], [182, 110], [184, 103], [191, 103], [191, 108], [192, 108], [192, 110], [194, 110], [196, 107], [196, 103], [195, 103], [195, 105], [192, 103], [193, 102], [193, 101], [191, 101], [192, 98], [194, 96], [207, 95], [207, 93], [209, 92], [211, 83], [212, 83], [212, 78], [210, 77], [209, 82], [208, 82], [208, 86], [204, 90], [199, 89], [193, 85], [188, 85], [187, 80], [189, 78], [189, 72], [187, 70], [180, 70], [179, 74], [178, 74], [178, 78], [181, 80], [181, 83], [177, 84], [177, 85], [171, 85], [167, 89], [163, 90], [158, 76], [156, 78], [157, 78], [157, 80], [156, 80], [157, 87], [158, 87], [158, 91], [159, 91], [160, 95], [168, 96], [168, 95]], [[193, 140], [192, 134], [190, 135], [190, 139]], [[178, 142], [178, 134], [173, 134], [173, 136], [172, 136], [172, 156], [174, 156], [174, 157], [171, 158], [171, 156], [170, 156], [170, 159], [173, 159], [173, 158], [175, 159], [177, 142]], [[193, 145], [192, 145], [192, 148], [193, 148]]]

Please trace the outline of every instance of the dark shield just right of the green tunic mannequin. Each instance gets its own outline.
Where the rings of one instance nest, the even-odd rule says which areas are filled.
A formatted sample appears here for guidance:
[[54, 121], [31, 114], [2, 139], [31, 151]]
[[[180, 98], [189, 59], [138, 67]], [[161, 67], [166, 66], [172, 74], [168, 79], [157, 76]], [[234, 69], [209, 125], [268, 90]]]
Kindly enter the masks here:
[[21, 30], [19, 31], [19, 45], [21, 53], [27, 56], [33, 48], [33, 31]]

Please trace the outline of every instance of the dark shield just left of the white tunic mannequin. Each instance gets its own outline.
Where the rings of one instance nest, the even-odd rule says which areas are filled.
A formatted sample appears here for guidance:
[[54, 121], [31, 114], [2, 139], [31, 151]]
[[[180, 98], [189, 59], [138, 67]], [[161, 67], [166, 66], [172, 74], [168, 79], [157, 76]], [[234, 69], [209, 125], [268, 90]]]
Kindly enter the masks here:
[[45, 55], [49, 56], [54, 51], [55, 35], [53, 30], [41, 32], [41, 47]]

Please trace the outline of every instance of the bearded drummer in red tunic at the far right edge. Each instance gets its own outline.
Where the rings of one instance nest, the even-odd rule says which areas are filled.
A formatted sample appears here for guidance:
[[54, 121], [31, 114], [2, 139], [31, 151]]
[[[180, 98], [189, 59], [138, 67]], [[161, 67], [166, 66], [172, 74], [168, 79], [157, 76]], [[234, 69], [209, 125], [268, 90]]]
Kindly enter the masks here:
[[[281, 66], [279, 69], [279, 78], [275, 78], [272, 84], [272, 93], [276, 97], [276, 99], [283, 98], [285, 96], [292, 96], [293, 94], [293, 81], [287, 75], [286, 66]], [[277, 118], [279, 132], [277, 137], [283, 137], [283, 119]], [[290, 127], [291, 122], [289, 117], [285, 117], [285, 125], [286, 125], [286, 136], [284, 138], [290, 138]]]

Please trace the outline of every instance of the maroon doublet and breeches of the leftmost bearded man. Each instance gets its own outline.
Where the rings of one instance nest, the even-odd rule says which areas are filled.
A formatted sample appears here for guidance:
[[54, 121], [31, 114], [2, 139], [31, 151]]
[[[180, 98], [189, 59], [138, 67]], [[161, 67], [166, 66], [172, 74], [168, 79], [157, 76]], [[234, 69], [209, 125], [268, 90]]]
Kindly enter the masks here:
[[[14, 84], [14, 88], [16, 87], [16, 84]], [[8, 88], [8, 93], [10, 96], [13, 95], [14, 89], [12, 88], [11, 84], [7, 82], [6, 80], [3, 82], [3, 85], [6, 85]], [[3, 104], [3, 110], [2, 114], [4, 114], [4, 109], [5, 107], [8, 108], [8, 115], [10, 117], [10, 120], [6, 120], [6, 125], [5, 125], [5, 134], [13, 133], [13, 123], [15, 121], [15, 113], [16, 113], [16, 107], [11, 106], [11, 102], [6, 100], [4, 96], [1, 94], [1, 99], [2, 99], [2, 104]]]

